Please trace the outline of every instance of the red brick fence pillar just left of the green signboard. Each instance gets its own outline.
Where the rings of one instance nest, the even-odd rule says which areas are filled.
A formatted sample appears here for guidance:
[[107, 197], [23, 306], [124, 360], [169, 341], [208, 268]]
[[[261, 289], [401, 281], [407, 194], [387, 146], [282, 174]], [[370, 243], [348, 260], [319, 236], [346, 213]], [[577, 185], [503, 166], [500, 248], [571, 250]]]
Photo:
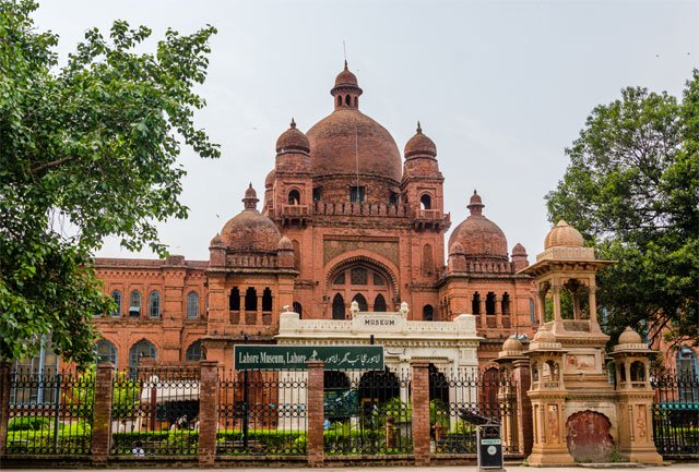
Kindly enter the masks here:
[[201, 361], [199, 380], [199, 467], [216, 461], [218, 428], [218, 362]]

